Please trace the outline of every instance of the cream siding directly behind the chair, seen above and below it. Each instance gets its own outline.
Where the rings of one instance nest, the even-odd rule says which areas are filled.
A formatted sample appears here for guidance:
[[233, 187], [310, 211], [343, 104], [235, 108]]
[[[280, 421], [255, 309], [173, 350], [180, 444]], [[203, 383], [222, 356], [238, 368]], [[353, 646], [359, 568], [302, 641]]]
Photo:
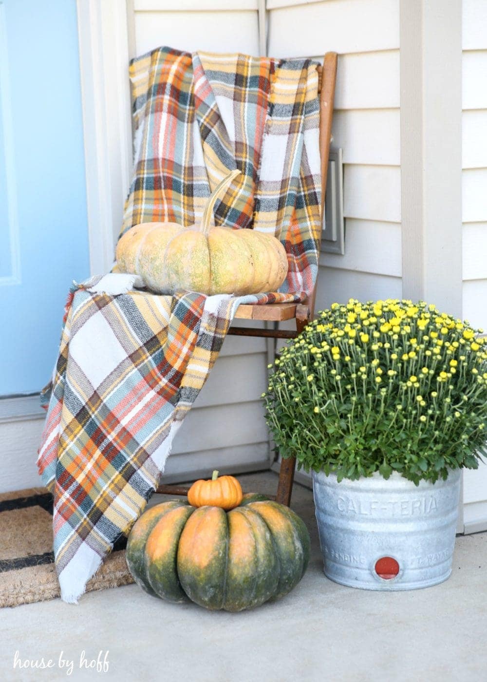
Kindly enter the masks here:
[[[257, 0], [134, 0], [131, 56], [181, 50], [259, 54]], [[269, 442], [260, 400], [267, 382], [263, 339], [228, 337], [205, 389], [175, 438], [165, 482], [212, 468], [266, 469]]]

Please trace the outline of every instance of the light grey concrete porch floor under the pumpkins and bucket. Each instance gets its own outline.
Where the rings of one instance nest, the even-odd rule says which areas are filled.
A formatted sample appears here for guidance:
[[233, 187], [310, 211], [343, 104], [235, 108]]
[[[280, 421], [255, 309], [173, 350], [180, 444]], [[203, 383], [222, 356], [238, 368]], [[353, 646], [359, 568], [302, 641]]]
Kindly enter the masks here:
[[[239, 477], [275, 492], [277, 477]], [[0, 679], [121, 682], [486, 682], [487, 533], [458, 537], [452, 576], [413, 592], [341, 587], [323, 575], [312, 492], [295, 485], [293, 509], [312, 537], [303, 580], [254, 611], [207, 612], [149, 597], [136, 585], [0, 611]], [[108, 672], [80, 670], [82, 651], [108, 650]], [[50, 670], [13, 669], [53, 659]], [[72, 674], [57, 667], [72, 659]]]

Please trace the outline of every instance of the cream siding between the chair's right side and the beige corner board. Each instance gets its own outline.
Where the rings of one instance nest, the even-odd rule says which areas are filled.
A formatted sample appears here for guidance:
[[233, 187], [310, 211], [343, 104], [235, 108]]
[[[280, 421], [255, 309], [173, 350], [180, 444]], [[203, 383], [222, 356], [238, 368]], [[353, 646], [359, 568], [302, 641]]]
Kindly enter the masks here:
[[345, 254], [321, 254], [316, 309], [401, 297], [398, 1], [267, 0], [267, 9], [269, 55], [339, 54], [331, 148], [343, 150]]

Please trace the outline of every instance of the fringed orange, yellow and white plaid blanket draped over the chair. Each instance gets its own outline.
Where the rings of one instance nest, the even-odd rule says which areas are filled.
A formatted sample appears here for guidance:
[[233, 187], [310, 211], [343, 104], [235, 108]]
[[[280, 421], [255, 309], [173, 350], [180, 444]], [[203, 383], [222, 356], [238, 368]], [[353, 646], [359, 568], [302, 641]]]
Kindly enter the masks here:
[[281, 291], [239, 298], [153, 295], [115, 273], [72, 288], [38, 458], [67, 602], [145, 508], [237, 307], [302, 299], [318, 267], [316, 65], [162, 48], [132, 62], [130, 78], [135, 163], [122, 233], [195, 222], [237, 167], [217, 224], [275, 232], [290, 269]]

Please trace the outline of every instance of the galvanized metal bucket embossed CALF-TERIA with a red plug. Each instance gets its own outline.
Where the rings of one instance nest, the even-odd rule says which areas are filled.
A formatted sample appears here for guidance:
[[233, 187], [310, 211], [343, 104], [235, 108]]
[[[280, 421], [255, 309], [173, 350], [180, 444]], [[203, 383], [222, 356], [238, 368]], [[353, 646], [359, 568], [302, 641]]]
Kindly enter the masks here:
[[398, 473], [358, 481], [313, 472], [325, 575], [349, 587], [412, 590], [452, 572], [460, 470], [415, 486]]

